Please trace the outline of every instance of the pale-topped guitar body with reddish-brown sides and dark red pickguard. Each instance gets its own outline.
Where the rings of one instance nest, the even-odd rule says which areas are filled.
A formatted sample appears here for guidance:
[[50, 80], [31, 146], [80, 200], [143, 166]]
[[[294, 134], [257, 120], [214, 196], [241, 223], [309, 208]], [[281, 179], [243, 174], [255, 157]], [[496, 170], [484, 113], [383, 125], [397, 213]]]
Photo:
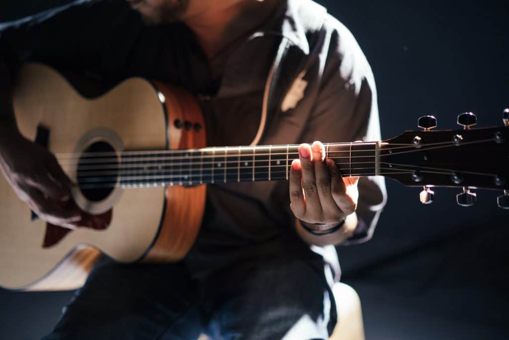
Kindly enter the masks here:
[[[205, 129], [194, 128], [205, 126], [200, 108], [180, 89], [131, 78], [87, 99], [40, 64], [23, 66], [16, 84], [14, 111], [21, 133], [36, 140], [44, 132], [42, 139], [56, 155], [83, 153], [101, 143], [115, 152], [205, 147]], [[194, 125], [186, 129], [174, 124], [177, 120]], [[60, 162], [74, 181], [75, 160]], [[76, 188], [74, 199], [90, 218], [88, 225], [68, 231], [32, 216], [0, 176], [0, 286], [75, 289], [101, 252], [124, 263], [175, 262], [185, 256], [202, 221], [205, 185], [109, 191], [91, 199]]]

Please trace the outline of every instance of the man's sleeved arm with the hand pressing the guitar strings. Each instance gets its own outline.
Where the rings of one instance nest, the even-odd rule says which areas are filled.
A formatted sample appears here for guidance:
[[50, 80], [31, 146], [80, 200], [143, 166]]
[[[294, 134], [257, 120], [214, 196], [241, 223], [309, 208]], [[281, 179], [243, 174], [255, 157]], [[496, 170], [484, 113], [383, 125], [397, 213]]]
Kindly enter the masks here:
[[[330, 38], [320, 93], [301, 139], [380, 140], [371, 68], [350, 32], [341, 24], [336, 25], [337, 31]], [[297, 217], [296, 231], [304, 241], [316, 245], [366, 241], [373, 234], [385, 204], [383, 178], [366, 177], [358, 181], [342, 178], [341, 173], [335, 173], [337, 167], [333, 162], [323, 161], [323, 155], [324, 152], [311, 152], [307, 160], [300, 154], [299, 160], [294, 161], [297, 164], [291, 171], [294, 176], [290, 195], [292, 211]], [[323, 166], [325, 164], [327, 166]], [[318, 207], [309, 207], [309, 199]], [[303, 202], [300, 210], [295, 209], [294, 201]], [[330, 204], [331, 201], [335, 205]], [[317, 236], [309, 232], [329, 230], [344, 218], [345, 223], [333, 233]]]

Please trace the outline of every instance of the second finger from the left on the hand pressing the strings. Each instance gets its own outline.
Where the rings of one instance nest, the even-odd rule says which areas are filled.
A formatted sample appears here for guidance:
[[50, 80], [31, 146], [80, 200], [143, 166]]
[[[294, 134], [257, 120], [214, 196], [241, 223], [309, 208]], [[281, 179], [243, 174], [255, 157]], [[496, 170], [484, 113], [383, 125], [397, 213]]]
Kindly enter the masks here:
[[313, 165], [311, 148], [307, 144], [299, 146], [299, 160], [302, 173], [302, 189], [304, 190], [304, 199], [306, 205], [306, 215], [311, 219], [321, 216], [322, 207], [318, 197], [315, 182], [315, 166]]

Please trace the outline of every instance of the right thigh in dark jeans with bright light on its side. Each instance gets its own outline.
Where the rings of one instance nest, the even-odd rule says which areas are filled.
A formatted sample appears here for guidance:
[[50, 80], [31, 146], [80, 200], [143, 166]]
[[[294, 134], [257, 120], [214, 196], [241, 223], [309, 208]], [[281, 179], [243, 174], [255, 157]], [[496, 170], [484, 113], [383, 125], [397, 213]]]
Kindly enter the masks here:
[[203, 282], [207, 332], [220, 339], [326, 339], [336, 322], [323, 260], [263, 258]]

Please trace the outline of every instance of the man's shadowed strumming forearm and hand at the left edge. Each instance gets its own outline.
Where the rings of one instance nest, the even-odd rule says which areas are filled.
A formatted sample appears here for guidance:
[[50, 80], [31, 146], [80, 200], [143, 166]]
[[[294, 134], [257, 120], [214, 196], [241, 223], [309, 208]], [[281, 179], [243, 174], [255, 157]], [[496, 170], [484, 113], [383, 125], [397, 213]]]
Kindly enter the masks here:
[[0, 169], [18, 197], [42, 219], [74, 228], [77, 207], [64, 209], [70, 199], [69, 178], [55, 157], [23, 137], [16, 126], [12, 107], [10, 70], [0, 59]]

